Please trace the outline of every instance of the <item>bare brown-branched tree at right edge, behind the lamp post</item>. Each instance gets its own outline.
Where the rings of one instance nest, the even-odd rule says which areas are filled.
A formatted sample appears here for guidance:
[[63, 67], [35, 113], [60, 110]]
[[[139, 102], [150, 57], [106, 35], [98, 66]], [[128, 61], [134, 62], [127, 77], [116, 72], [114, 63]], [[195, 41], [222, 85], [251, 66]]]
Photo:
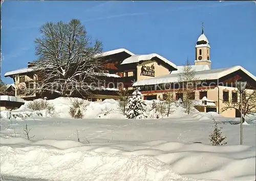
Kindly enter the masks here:
[[[234, 90], [234, 93], [240, 95], [238, 90]], [[227, 109], [233, 108], [241, 111], [241, 96], [240, 99], [236, 100], [236, 98], [232, 98], [229, 101], [223, 101], [225, 106], [221, 109], [221, 112], [224, 112]], [[236, 101], [233, 101], [236, 100]], [[243, 122], [245, 120], [245, 116], [256, 114], [256, 90], [244, 90], [243, 92]], [[241, 114], [241, 112], [240, 112]]]

